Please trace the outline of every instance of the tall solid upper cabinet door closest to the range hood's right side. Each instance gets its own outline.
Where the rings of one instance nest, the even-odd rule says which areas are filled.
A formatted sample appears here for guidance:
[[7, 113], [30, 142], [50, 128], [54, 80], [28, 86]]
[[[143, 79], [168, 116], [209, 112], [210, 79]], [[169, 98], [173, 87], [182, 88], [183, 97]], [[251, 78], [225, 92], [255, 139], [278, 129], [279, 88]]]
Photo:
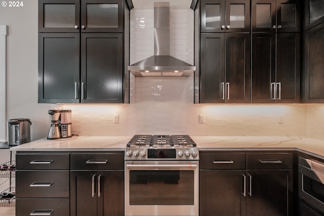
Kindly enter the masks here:
[[225, 103], [225, 34], [201, 34], [200, 103]]

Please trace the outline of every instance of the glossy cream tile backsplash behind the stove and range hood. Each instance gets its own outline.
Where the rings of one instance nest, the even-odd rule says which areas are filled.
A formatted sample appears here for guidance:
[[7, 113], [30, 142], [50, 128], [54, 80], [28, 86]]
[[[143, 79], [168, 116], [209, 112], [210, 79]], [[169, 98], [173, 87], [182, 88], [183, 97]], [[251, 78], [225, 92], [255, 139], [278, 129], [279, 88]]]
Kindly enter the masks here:
[[[193, 64], [193, 12], [170, 11], [171, 55]], [[132, 10], [131, 64], [153, 55], [153, 11]], [[80, 136], [308, 136], [324, 139], [324, 105], [194, 104], [190, 77], [134, 77], [130, 104], [56, 104], [72, 110]], [[113, 123], [113, 115], [119, 123]], [[199, 123], [199, 114], [205, 123]]]

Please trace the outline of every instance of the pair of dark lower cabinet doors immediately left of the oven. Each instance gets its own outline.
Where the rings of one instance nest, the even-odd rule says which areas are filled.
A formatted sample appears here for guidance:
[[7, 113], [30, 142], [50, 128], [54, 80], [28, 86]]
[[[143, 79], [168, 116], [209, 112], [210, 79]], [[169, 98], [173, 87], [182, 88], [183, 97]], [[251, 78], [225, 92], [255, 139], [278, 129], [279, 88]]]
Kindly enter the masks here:
[[123, 170], [73, 170], [70, 179], [70, 215], [124, 215]]

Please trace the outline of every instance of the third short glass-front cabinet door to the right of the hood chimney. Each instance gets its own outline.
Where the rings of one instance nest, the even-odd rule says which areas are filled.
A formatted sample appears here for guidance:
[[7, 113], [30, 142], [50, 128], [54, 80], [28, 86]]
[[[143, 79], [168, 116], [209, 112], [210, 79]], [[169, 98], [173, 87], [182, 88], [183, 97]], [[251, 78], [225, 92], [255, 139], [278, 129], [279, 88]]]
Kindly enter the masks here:
[[252, 31], [276, 31], [276, 6], [271, 0], [252, 0]]

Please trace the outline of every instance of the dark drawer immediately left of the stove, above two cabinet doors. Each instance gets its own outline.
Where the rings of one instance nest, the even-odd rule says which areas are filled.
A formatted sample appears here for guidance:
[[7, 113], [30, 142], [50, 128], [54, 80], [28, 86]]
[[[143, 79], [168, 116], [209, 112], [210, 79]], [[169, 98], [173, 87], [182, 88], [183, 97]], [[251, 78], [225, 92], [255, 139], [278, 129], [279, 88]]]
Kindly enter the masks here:
[[71, 154], [71, 169], [124, 169], [124, 151], [104, 154]]

